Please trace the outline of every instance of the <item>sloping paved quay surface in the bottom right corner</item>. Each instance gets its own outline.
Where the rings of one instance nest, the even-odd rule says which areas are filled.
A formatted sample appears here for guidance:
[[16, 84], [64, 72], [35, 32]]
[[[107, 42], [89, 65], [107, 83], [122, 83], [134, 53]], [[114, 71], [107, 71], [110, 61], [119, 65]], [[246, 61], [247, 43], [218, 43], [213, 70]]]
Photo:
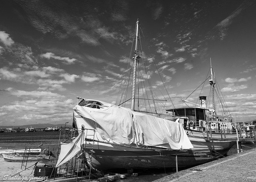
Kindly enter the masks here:
[[214, 160], [154, 182], [256, 182], [256, 149]]

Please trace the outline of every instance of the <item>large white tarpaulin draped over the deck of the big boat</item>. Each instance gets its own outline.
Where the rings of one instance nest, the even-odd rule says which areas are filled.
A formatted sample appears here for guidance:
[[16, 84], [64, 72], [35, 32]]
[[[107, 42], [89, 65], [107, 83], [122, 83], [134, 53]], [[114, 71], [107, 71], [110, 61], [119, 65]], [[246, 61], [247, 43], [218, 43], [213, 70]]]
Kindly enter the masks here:
[[169, 144], [170, 149], [193, 148], [180, 123], [115, 105], [101, 109], [77, 105], [73, 109], [108, 142], [147, 146]]

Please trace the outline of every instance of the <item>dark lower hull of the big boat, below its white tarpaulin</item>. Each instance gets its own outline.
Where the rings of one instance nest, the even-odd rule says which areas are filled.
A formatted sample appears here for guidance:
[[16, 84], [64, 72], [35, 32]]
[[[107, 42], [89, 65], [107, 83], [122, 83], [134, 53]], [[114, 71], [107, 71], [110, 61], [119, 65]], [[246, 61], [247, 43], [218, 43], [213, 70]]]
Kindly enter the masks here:
[[[204, 164], [224, 157], [235, 144], [233, 141], [206, 141], [203, 139], [190, 140], [193, 149], [143, 149], [118, 145], [94, 144], [93, 155], [91, 148], [87, 147], [86, 159], [98, 170], [121, 168], [175, 168], [176, 156], [178, 167], [189, 167]], [[88, 145], [88, 143], [87, 143]]]

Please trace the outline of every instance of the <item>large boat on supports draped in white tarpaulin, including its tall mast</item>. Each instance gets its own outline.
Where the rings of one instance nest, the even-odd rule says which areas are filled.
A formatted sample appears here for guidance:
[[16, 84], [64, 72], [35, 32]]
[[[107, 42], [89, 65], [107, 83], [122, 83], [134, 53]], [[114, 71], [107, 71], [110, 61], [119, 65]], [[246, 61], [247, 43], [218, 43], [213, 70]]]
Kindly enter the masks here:
[[[132, 77], [131, 97], [127, 99], [125, 91], [118, 106], [77, 97], [78, 105], [73, 108], [73, 126], [78, 129], [79, 135], [71, 143], [62, 143], [56, 167], [72, 159], [80, 150], [86, 163], [96, 169], [175, 168], [176, 161], [179, 167], [194, 166], [222, 157], [234, 145], [229, 141], [190, 137], [182, 123], [164, 119], [170, 115], [156, 110], [156, 102], [160, 99], [151, 85], [148, 87], [151, 98], [144, 97], [146, 88], [142, 88], [142, 94], [136, 96], [135, 88], [139, 83], [150, 83], [146, 69], [146, 76], [143, 77], [138, 64], [142, 57], [142, 50], [138, 50], [139, 27], [137, 20], [130, 69], [133, 75], [129, 76]], [[143, 64], [145, 60], [142, 58], [140, 65]], [[124, 90], [128, 90], [129, 80], [125, 81], [127, 87], [124, 86]], [[135, 107], [137, 100], [138, 108]], [[153, 103], [150, 104], [150, 101]], [[146, 103], [148, 108], [144, 106]], [[131, 108], [122, 107], [125, 104], [130, 104]]]

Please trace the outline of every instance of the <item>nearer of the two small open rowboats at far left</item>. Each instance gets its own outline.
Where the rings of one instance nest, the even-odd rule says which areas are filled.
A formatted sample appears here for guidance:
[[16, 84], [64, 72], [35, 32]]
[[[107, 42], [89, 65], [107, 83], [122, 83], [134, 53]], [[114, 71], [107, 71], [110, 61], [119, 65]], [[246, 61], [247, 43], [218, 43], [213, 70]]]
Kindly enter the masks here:
[[44, 155], [16, 155], [16, 154], [3, 154], [4, 160], [7, 162], [47, 162], [50, 156]]

